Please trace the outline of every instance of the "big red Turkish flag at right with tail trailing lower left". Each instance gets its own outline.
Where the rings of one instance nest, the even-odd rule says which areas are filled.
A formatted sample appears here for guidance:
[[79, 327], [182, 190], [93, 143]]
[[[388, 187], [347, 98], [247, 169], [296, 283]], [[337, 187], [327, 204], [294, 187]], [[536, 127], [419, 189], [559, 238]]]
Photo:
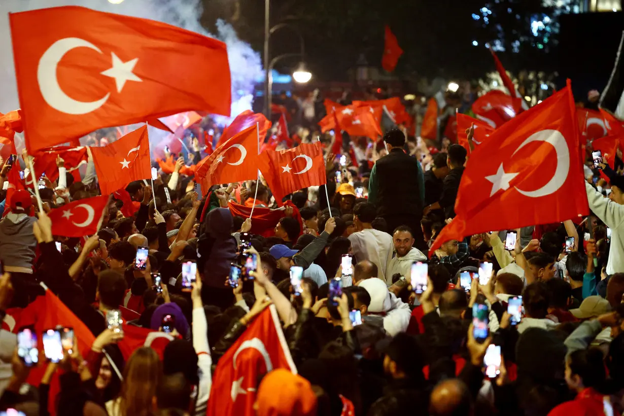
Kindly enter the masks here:
[[429, 253], [449, 239], [587, 215], [578, 136], [569, 81], [497, 128], [472, 152], [457, 193], [456, 217]]

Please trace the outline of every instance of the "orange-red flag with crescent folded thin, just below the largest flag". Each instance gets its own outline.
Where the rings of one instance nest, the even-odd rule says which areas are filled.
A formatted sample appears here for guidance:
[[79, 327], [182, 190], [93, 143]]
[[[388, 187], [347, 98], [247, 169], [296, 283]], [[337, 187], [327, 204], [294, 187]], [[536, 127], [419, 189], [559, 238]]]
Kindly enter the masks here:
[[109, 195], [130, 182], [152, 177], [147, 127], [139, 127], [117, 142], [92, 147], [95, 172], [102, 195]]

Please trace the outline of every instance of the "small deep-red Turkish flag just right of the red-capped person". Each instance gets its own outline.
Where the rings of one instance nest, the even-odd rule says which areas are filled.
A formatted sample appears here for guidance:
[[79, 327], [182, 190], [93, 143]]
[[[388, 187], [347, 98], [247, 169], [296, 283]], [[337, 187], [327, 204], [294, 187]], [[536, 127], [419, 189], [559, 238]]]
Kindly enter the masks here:
[[108, 201], [108, 195], [94, 196], [54, 208], [47, 215], [52, 220], [52, 234], [82, 237], [97, 233], [97, 225]]

